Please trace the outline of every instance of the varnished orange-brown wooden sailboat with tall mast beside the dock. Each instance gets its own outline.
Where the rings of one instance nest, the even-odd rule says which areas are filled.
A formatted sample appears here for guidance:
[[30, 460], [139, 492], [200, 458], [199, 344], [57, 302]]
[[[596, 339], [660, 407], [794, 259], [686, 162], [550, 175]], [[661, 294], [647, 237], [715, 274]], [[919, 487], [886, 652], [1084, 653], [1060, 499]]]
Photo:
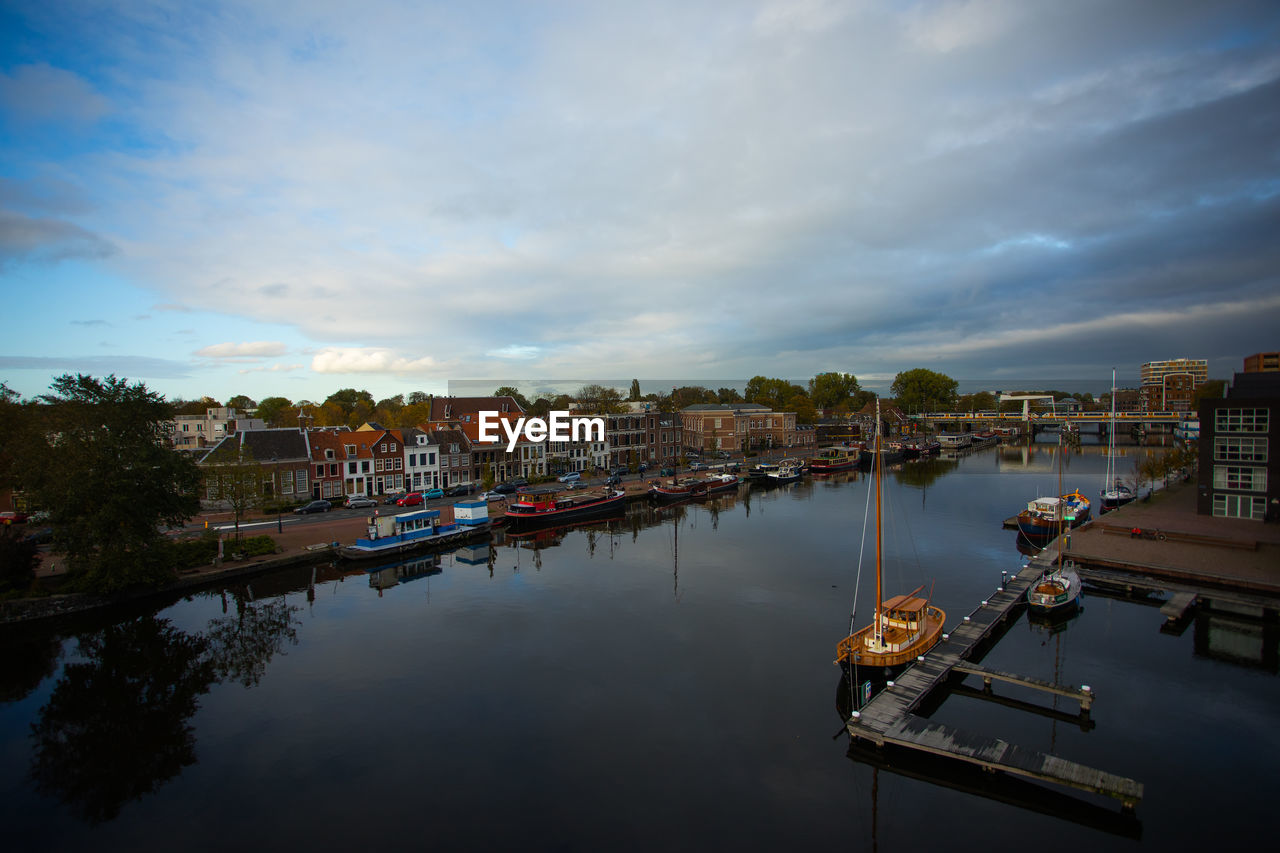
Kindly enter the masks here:
[[876, 441], [873, 446], [874, 489], [876, 489], [876, 620], [864, 628], [852, 630], [836, 644], [836, 662], [841, 666], [881, 666], [886, 669], [914, 661], [933, 648], [942, 637], [942, 626], [947, 615], [941, 607], [929, 603], [919, 593], [919, 587], [905, 596], [882, 599], [882, 560], [881, 560], [881, 478], [884, 461], [881, 451], [879, 401], [876, 402]]

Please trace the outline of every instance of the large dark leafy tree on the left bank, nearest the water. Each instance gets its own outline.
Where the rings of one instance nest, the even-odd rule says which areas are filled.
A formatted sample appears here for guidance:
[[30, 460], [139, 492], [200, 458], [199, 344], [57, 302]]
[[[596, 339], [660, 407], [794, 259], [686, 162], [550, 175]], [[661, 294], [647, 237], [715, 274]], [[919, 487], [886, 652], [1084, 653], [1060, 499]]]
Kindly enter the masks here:
[[52, 389], [19, 465], [70, 576], [92, 592], [170, 579], [160, 526], [200, 508], [200, 470], [169, 444], [173, 406], [114, 375], [63, 375]]

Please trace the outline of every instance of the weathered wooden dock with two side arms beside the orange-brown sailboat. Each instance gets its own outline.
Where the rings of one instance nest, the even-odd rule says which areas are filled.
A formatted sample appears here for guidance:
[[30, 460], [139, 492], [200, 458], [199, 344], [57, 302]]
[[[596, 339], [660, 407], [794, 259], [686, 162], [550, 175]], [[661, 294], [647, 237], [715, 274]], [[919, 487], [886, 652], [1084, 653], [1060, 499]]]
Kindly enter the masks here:
[[1030, 749], [1023, 749], [998, 738], [968, 734], [918, 716], [915, 712], [928, 697], [954, 674], [975, 674], [988, 685], [992, 680], [1011, 681], [1023, 686], [1070, 695], [1080, 702], [1082, 715], [1088, 713], [1093, 692], [1066, 688], [1037, 679], [989, 670], [969, 661], [984, 642], [998, 637], [998, 629], [1020, 612], [1027, 588], [1051, 565], [1052, 548], [1032, 558], [1018, 574], [1009, 578], [977, 610], [964, 616], [959, 625], [943, 634], [943, 640], [918, 658], [910, 669], [859, 711], [854, 711], [846, 730], [850, 736], [877, 747], [893, 745], [945, 756], [977, 765], [989, 771], [1002, 771], [1038, 781], [1053, 783], [1078, 790], [1112, 797], [1128, 809], [1142, 799], [1143, 786], [1124, 776], [1076, 765]]

